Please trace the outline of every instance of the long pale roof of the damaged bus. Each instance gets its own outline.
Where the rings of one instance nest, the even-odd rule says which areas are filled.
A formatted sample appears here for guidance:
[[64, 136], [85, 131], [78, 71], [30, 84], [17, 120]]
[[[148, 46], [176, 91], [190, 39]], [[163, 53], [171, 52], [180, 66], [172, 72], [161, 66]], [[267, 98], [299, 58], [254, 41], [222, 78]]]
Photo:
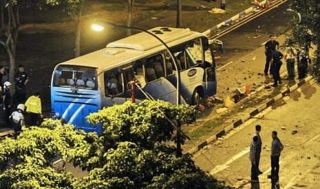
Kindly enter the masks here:
[[[199, 32], [190, 31], [190, 29], [173, 27], [155, 27], [148, 31], [160, 38], [168, 47], [205, 36]], [[104, 49], [82, 55], [61, 64], [91, 66], [98, 68], [98, 73], [101, 73], [107, 68], [132, 62], [164, 49], [164, 45], [157, 38], [147, 34], [147, 32], [141, 32], [110, 42]]]

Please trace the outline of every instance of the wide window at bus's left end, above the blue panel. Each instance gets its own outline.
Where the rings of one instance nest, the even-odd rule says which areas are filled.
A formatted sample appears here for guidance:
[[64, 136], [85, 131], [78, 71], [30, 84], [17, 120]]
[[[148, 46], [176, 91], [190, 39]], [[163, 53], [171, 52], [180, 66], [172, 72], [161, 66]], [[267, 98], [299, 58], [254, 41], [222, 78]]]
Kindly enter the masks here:
[[54, 71], [53, 86], [97, 90], [96, 68], [61, 65]]

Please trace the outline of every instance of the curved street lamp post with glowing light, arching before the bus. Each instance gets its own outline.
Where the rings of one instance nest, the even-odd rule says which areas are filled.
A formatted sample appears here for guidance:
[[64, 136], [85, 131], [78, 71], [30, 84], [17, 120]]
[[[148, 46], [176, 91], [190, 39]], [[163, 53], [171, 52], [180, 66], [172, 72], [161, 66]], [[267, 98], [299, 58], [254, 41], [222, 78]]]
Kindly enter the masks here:
[[[97, 24], [93, 24], [92, 25], [92, 29], [96, 30], [96, 31], [102, 31], [104, 29], [103, 26], [109, 27], [111, 29], [114, 29], [116, 27], [122, 27], [122, 28], [126, 28], [126, 29], [136, 29], [138, 31], [142, 31], [145, 32], [151, 36], [153, 36], [154, 38], [156, 38], [159, 42], [161, 42], [161, 44], [167, 49], [169, 55], [172, 58], [173, 64], [175, 66], [175, 71], [177, 73], [177, 105], [180, 105], [181, 103], [181, 99], [180, 99], [180, 72], [178, 70], [178, 64], [175, 61], [175, 57], [173, 55], [173, 53], [171, 52], [171, 50], [169, 49], [168, 45], [161, 40], [158, 36], [156, 36], [155, 34], [151, 33], [150, 31], [146, 30], [146, 29], [142, 29], [139, 27], [129, 27], [129, 26], [124, 26], [124, 25], [115, 25], [113, 23], [108, 23], [107, 21], [96, 21]], [[178, 127], [178, 131], [177, 131], [177, 155], [181, 156], [182, 155], [182, 150], [181, 150], [181, 123], [180, 121], [177, 121], [177, 127]]]

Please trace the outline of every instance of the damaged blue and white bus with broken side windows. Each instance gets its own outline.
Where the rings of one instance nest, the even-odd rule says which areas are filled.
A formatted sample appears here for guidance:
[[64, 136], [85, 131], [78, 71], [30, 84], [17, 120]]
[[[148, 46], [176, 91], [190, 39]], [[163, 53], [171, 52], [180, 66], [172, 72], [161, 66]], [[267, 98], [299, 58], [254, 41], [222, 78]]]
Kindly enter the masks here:
[[56, 65], [52, 75], [52, 116], [77, 129], [101, 133], [90, 125], [92, 112], [131, 100], [130, 84], [138, 79], [136, 103], [147, 99], [177, 101], [177, 73], [180, 73], [181, 103], [197, 105], [200, 98], [215, 95], [216, 67], [209, 39], [190, 29], [149, 29], [170, 48], [142, 32], [111, 42], [106, 48]]

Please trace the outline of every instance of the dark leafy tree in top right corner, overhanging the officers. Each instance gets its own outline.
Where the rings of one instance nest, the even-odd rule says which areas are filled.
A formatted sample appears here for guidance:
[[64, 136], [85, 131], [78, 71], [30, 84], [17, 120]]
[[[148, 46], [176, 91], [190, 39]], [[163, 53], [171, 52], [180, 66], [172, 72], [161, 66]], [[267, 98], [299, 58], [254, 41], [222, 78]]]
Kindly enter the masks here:
[[317, 0], [295, 0], [291, 9], [299, 13], [301, 22], [296, 25], [284, 44], [285, 47], [315, 47], [311, 74], [320, 84], [320, 7]]

